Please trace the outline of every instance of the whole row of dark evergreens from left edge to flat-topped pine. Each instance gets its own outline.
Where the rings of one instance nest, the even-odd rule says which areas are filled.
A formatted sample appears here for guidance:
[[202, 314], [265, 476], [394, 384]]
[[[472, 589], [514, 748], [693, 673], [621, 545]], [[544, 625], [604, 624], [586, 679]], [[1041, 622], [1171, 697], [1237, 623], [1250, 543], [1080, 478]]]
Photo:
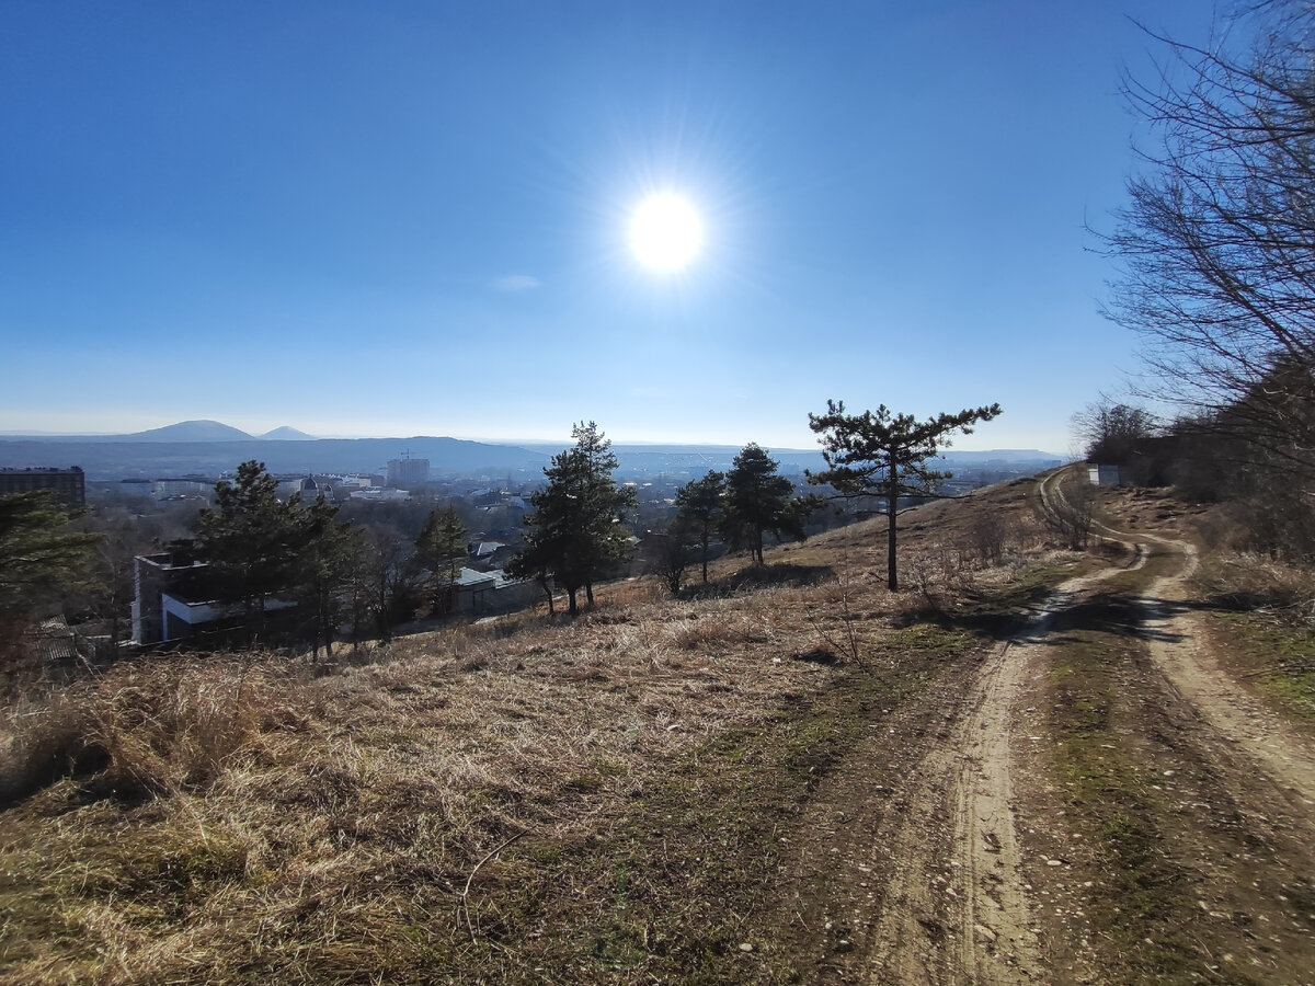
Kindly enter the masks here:
[[[807, 475], [827, 497], [878, 497], [889, 517], [889, 586], [896, 573], [896, 517], [901, 498], [938, 496], [948, 475], [926, 465], [956, 431], [989, 421], [998, 405], [917, 421], [885, 406], [849, 415], [830, 401], [810, 415], [821, 435], [827, 469]], [[575, 444], [544, 468], [544, 485], [530, 494], [521, 551], [508, 565], [515, 578], [539, 585], [550, 615], [555, 594], [567, 596], [567, 613], [594, 603], [594, 586], [633, 557], [639, 539], [631, 531], [636, 507], [633, 486], [613, 476], [611, 442], [594, 422], [573, 427]], [[827, 497], [800, 494], [778, 472], [778, 463], [751, 442], [729, 471], [709, 471], [676, 496], [675, 518], [650, 532], [648, 560], [679, 592], [685, 571], [697, 563], [702, 581], [714, 542], [746, 551], [752, 564], [765, 561], [768, 538], [802, 539], [805, 525]], [[317, 496], [277, 497], [277, 480], [263, 463], [242, 463], [231, 481], [214, 488], [214, 502], [195, 518], [192, 536], [171, 547], [204, 563], [191, 588], [208, 602], [227, 606], [249, 643], [299, 640], [331, 653], [342, 627], [354, 639], [388, 639], [392, 627], [418, 609], [451, 609], [467, 528], [454, 505], [431, 510], [413, 538], [339, 518], [339, 507]], [[104, 535], [79, 530], [53, 496], [0, 498], [0, 621], [30, 621], [42, 607], [67, 598], [92, 580]], [[132, 552], [128, 563], [130, 565]], [[116, 560], [116, 571], [124, 559]], [[114, 606], [124, 593], [113, 582]], [[117, 640], [117, 638], [116, 638]]]

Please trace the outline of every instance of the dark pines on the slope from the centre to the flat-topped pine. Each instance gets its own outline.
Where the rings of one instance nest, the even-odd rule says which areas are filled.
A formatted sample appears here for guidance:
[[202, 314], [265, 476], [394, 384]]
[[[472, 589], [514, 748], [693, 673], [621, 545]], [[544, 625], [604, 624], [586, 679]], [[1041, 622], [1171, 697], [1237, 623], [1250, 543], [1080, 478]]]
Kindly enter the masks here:
[[[825, 414], [810, 414], [819, 435], [827, 468], [806, 473], [815, 486], [826, 486], [836, 498], [876, 497], [884, 501], [886, 527], [888, 586], [898, 590], [897, 517], [901, 500], [940, 496], [949, 473], [927, 461], [949, 444], [951, 436], [969, 434], [982, 421], [1001, 413], [998, 404], [939, 414], [919, 421], [894, 414], [885, 405], [876, 411], [847, 414], [843, 401], [828, 401]], [[547, 485], [531, 494], [534, 511], [526, 517], [525, 548], [509, 573], [535, 581], [555, 611], [554, 586], [567, 593], [567, 610], [579, 611], [583, 589], [593, 605], [593, 585], [629, 559], [635, 538], [625, 527], [625, 513], [635, 505], [634, 490], [613, 479], [617, 459], [611, 442], [596, 422], [573, 429], [576, 444], [554, 456], [544, 468]], [[767, 536], [802, 539], [809, 515], [823, 497], [800, 496], [794, 484], [778, 472], [780, 463], [757, 443], [750, 442], [727, 472], [710, 469], [676, 493], [676, 515], [664, 531], [650, 532], [648, 563], [679, 593], [686, 569], [697, 563], [707, 584], [713, 542], [725, 539], [734, 550], [747, 551], [753, 564], [764, 564]]]

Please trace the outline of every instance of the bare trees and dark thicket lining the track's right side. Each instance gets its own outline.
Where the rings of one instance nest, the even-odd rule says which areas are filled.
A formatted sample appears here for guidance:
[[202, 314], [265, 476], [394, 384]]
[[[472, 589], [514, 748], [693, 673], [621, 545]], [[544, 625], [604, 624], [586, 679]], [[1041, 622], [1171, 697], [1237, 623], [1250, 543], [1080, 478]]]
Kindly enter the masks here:
[[1155, 37], [1124, 93], [1149, 137], [1097, 234], [1106, 314], [1141, 338], [1135, 402], [1078, 417], [1088, 452], [1222, 500], [1249, 546], [1315, 563], [1315, 5], [1245, 4], [1206, 46]]

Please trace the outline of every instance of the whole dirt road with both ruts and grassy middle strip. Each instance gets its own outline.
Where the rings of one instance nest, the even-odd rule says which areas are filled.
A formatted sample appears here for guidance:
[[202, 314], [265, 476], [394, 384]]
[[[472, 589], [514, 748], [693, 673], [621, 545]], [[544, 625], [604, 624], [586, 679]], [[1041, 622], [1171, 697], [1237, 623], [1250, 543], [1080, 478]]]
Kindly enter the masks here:
[[1315, 749], [1212, 659], [1191, 547], [1098, 532], [1122, 560], [819, 786], [786, 874], [815, 978], [1315, 981]]

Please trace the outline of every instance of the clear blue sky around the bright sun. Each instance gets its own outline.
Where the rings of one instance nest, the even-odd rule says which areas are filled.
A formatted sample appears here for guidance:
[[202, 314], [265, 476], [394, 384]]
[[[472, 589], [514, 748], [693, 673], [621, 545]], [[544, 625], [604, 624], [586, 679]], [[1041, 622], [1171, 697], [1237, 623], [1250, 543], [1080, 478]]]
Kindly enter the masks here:
[[[1208, 4], [0, 5], [0, 430], [1069, 447], [1136, 368], [1084, 223]], [[701, 254], [643, 268], [677, 191]]]

